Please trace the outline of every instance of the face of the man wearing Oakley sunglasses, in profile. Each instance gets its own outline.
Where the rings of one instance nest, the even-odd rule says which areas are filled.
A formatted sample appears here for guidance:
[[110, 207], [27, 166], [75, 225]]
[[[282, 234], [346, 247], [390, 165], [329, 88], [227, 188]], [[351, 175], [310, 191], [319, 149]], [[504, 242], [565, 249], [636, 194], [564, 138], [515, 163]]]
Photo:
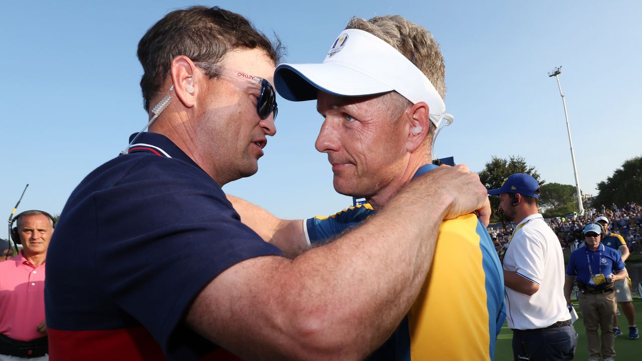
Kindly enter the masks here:
[[[218, 65], [273, 84], [274, 63], [263, 50], [230, 51]], [[205, 75], [202, 81], [205, 91], [199, 94], [193, 132], [197, 163], [221, 186], [253, 175], [267, 145], [266, 136], [276, 133], [273, 114], [266, 119], [257, 114], [260, 85], [229, 76], [209, 79]]]

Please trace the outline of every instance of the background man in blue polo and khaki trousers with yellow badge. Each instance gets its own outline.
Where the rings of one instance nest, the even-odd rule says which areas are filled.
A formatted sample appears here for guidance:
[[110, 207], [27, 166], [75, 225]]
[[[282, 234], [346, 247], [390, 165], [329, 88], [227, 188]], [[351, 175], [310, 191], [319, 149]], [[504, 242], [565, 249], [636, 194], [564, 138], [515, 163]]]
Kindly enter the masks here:
[[[614, 360], [613, 310], [616, 301], [613, 284], [629, 277], [620, 252], [600, 243], [604, 234], [602, 225], [598, 223], [584, 227], [586, 247], [571, 253], [564, 283], [564, 297], [570, 305], [571, 290], [577, 277], [577, 300], [586, 328], [589, 361], [600, 360], [600, 354], [604, 361]], [[598, 335], [598, 328], [601, 335]]]

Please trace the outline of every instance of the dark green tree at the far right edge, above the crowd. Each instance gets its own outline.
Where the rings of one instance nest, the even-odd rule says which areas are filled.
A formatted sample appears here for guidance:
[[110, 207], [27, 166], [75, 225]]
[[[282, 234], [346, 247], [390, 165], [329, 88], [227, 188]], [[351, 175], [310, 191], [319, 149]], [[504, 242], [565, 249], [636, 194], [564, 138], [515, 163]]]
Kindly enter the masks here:
[[642, 156], [627, 159], [611, 177], [598, 183], [598, 192], [593, 204], [642, 203]]

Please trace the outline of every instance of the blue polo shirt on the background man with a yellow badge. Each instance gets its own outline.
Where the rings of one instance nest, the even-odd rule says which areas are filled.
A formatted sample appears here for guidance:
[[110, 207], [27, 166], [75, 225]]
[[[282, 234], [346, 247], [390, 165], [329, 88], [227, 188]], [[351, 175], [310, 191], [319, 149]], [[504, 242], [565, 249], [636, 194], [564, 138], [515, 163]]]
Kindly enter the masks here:
[[577, 276], [578, 281], [588, 285], [591, 274], [607, 276], [622, 270], [624, 270], [624, 263], [620, 252], [600, 243], [595, 251], [591, 251], [589, 247], [573, 251], [566, 267], [566, 276]]

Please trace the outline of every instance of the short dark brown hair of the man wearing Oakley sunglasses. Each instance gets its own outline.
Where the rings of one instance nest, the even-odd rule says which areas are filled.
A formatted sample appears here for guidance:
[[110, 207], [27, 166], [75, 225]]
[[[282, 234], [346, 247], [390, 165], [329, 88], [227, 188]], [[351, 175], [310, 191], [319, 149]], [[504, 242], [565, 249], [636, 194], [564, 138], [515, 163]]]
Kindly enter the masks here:
[[185, 55], [195, 62], [216, 64], [232, 49], [259, 48], [277, 64], [284, 48], [279, 38], [275, 38], [275, 42], [271, 42], [248, 19], [218, 6], [191, 6], [168, 13], [153, 24], [138, 43], [145, 110], [161, 91], [173, 58]]

